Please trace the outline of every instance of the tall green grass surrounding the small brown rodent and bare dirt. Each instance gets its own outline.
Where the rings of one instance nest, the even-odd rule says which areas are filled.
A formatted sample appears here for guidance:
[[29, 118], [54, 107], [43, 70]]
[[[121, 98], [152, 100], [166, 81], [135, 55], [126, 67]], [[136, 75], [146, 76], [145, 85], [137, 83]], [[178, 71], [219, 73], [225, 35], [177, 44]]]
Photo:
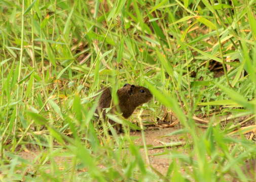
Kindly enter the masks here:
[[[0, 1], [0, 180], [228, 181], [236, 173], [248, 181], [239, 166], [255, 156], [241, 134], [255, 130], [255, 7], [248, 0]], [[161, 108], [181, 123], [169, 135], [188, 145], [157, 154], [171, 159], [166, 173], [150, 165], [141, 132], [143, 157], [130, 122], [116, 119], [123, 135], [93, 122], [96, 91], [126, 82], [154, 95], [140, 123], [156, 124]], [[207, 121], [203, 132], [195, 116]]]

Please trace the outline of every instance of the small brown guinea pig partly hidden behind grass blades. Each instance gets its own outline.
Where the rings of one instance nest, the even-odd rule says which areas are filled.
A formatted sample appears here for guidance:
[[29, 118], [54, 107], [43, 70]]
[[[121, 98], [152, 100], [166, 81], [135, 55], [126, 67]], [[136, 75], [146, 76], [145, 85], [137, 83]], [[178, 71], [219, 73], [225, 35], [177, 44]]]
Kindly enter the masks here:
[[[102, 90], [102, 89], [101, 89]], [[143, 86], [135, 86], [126, 83], [122, 88], [117, 90], [117, 96], [119, 100], [118, 108], [114, 106], [115, 110], [120, 109], [124, 118], [131, 116], [133, 111], [141, 104], [147, 103], [152, 99], [152, 94], [148, 88]], [[105, 108], [109, 108], [112, 103], [111, 88], [103, 88], [103, 92], [100, 96], [96, 113], [102, 113], [103, 118], [106, 117]], [[112, 124], [114, 121], [111, 121]], [[117, 128], [119, 131], [122, 126]]]

